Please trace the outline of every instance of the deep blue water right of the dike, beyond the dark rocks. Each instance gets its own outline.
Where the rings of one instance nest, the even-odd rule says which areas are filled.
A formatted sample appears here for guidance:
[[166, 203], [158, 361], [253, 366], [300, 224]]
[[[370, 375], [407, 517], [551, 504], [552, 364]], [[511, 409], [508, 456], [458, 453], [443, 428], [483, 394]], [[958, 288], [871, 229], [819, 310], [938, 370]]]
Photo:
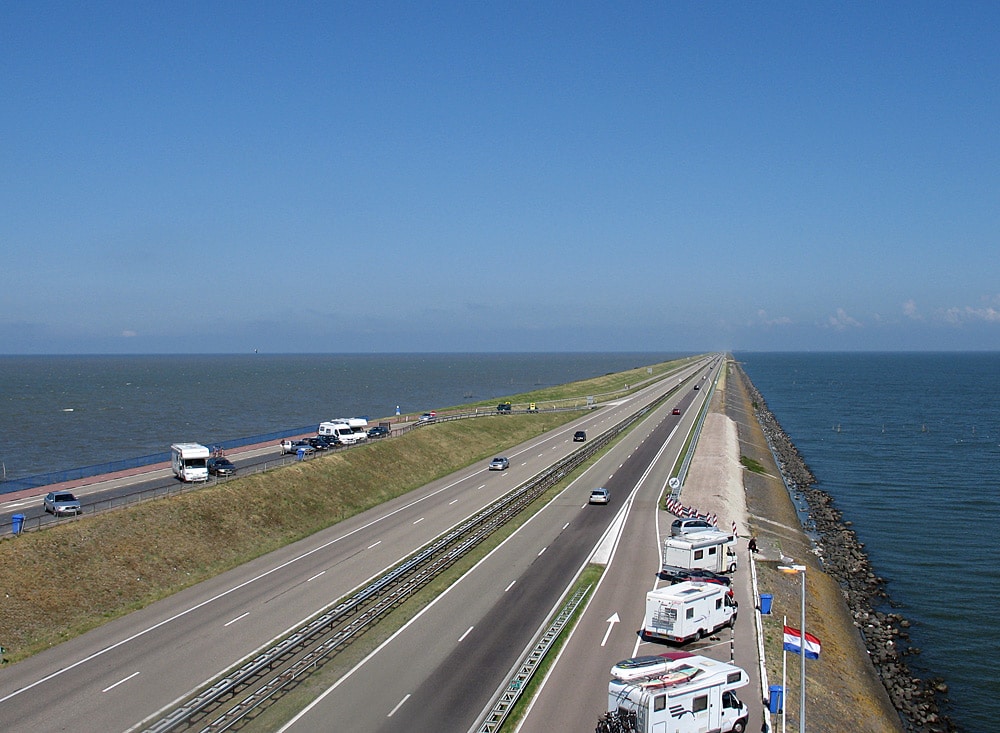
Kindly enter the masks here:
[[1000, 354], [735, 356], [913, 622], [913, 672], [996, 730]]

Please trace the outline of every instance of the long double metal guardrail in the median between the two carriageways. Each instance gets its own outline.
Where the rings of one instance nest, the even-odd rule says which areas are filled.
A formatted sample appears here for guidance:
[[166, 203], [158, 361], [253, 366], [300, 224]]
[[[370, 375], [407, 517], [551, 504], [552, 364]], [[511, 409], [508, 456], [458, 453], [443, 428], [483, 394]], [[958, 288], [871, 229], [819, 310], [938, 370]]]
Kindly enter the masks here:
[[[653, 410], [665, 397], [666, 394], [661, 395], [651, 404], [639, 408], [598, 438], [573, 451], [414, 553], [397, 568], [335, 608], [322, 612], [316, 619], [258, 654], [242, 667], [224, 673], [209, 688], [148, 727], [146, 733], [183, 730], [208, 733], [230, 730], [378, 623], [433, 577], [443, 573], [546, 490], [602, 450], [640, 417]], [[243, 695], [251, 685], [255, 686], [254, 690]], [[229, 707], [208, 720], [213, 711], [220, 710], [227, 703]]]

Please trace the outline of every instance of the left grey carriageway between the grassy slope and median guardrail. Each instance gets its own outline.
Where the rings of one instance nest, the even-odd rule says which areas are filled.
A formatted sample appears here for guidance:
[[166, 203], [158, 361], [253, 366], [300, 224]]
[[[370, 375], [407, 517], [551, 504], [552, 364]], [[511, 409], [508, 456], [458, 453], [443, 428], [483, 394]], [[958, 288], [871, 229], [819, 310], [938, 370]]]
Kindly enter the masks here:
[[[582, 428], [590, 435], [599, 433], [634, 411], [641, 399], [649, 400], [662, 392], [664, 385], [590, 412], [518, 446], [508, 453], [511, 468], [507, 471], [491, 473], [485, 464], [471, 466], [5, 668], [0, 677], [0, 719], [5, 721], [5, 729], [141, 728], [199, 685], [328, 608], [556, 457], [566, 455], [574, 448], [573, 431]], [[615, 448], [612, 454], [619, 450], [623, 449]], [[575, 525], [581, 526], [578, 529], [571, 522], [573, 530], [566, 532], [567, 537], [600, 524], [589, 517], [579, 519], [597, 517], [597, 512], [577, 509]], [[611, 514], [604, 511], [606, 517]], [[541, 524], [533, 521], [528, 526]], [[553, 542], [553, 538], [548, 541]], [[564, 571], [568, 582], [572, 573], [568, 568]], [[516, 575], [511, 578], [517, 580]], [[517, 585], [515, 582], [507, 592], [513, 592]], [[504, 584], [508, 587], [509, 583]], [[517, 593], [522, 592], [517, 589]], [[449, 595], [434, 607], [444, 608]], [[534, 594], [528, 595], [530, 600]], [[519, 606], [517, 614], [506, 615], [520, 615], [528, 626], [537, 628], [540, 619], [528, 620], [535, 612], [530, 602], [522, 599], [519, 603], [526, 608], [522, 611]], [[501, 639], [500, 646], [510, 645], [502, 635], [495, 636]], [[471, 641], [475, 634], [465, 638]]]

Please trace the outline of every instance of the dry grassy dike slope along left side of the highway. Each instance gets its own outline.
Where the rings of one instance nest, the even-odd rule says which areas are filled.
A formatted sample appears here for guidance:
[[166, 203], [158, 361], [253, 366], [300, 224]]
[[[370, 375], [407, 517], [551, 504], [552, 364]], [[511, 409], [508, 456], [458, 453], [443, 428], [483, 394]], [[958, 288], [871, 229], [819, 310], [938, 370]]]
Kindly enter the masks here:
[[[684, 360], [687, 361], [687, 360]], [[678, 362], [650, 367], [662, 376]], [[620, 395], [647, 367], [517, 397]], [[0, 541], [0, 646], [18, 661], [572, 420], [540, 412], [404, 436]]]

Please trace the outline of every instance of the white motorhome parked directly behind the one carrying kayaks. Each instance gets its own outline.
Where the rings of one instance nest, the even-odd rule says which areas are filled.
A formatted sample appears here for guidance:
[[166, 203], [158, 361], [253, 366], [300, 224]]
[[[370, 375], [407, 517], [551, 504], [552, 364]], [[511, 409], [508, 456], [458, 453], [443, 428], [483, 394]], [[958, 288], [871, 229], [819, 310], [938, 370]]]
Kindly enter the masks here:
[[642, 636], [683, 644], [732, 626], [738, 610], [732, 591], [719, 583], [667, 585], [646, 594]]

